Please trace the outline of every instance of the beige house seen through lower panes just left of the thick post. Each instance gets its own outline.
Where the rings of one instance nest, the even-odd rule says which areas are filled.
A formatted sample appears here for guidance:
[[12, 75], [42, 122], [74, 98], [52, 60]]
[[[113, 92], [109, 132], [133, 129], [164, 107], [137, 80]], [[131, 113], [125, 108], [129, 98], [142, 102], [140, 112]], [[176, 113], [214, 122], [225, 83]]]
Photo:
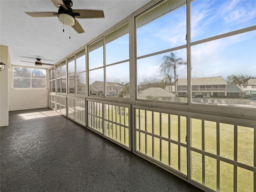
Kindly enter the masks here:
[[[116, 96], [122, 93], [124, 86], [114, 83], [114, 82], [106, 82], [106, 96]], [[90, 84], [90, 94], [91, 95], [100, 95], [100, 93], [104, 93], [104, 82], [103, 81], [95, 81]]]

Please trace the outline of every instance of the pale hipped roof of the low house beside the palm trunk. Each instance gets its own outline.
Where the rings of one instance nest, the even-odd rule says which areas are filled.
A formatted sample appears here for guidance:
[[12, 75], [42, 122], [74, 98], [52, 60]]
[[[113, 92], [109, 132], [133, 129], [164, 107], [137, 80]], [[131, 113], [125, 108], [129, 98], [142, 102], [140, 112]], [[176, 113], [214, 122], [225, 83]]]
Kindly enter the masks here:
[[139, 96], [154, 96], [154, 97], [174, 97], [175, 95], [172, 92], [166, 91], [159, 87], [152, 87], [145, 89], [143, 91], [140, 91], [138, 93]]

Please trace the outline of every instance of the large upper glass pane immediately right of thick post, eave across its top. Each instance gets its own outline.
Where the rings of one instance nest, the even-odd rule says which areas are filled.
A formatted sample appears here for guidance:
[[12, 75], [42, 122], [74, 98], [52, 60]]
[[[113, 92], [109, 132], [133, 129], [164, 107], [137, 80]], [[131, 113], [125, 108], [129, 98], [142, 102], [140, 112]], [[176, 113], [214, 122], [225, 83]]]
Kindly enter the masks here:
[[137, 56], [186, 44], [186, 1], [164, 2], [136, 22]]

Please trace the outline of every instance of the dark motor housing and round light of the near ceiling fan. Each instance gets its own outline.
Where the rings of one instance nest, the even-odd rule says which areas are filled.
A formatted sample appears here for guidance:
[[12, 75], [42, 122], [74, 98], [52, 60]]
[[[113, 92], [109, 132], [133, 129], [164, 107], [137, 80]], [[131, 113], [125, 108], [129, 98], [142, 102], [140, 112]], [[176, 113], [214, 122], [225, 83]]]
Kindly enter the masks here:
[[[69, 2], [71, 2], [71, 4]], [[63, 6], [60, 6], [58, 10], [59, 21], [66, 26], [73, 26], [75, 24], [75, 15], [73, 13], [72, 8], [70, 7], [72, 5], [72, 1], [68, 1], [68, 3], [66, 2], [64, 3], [66, 5], [66, 8], [64, 8]]]

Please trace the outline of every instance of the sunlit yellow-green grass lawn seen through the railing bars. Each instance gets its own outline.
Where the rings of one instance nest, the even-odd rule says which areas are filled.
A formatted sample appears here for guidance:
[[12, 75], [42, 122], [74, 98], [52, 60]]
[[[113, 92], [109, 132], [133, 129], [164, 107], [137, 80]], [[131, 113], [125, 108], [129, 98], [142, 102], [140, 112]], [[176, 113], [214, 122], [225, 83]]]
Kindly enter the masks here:
[[[128, 108], [119, 108], [108, 104], [105, 104], [104, 108], [106, 111], [106, 115], [104, 116], [106, 118], [104, 122], [106, 136], [129, 146], [129, 130], [127, 128], [129, 125]], [[95, 111], [97, 111], [96, 115], [99, 115], [101, 110]], [[169, 118], [170, 130], [168, 128]], [[187, 150], [186, 147], [180, 145], [186, 145], [186, 121], [186, 116], [169, 115], [165, 113], [160, 114], [159, 112], [136, 109], [136, 150], [186, 175]], [[162, 126], [160, 126], [160, 124], [162, 124]], [[219, 129], [220, 156], [234, 160], [234, 125], [219, 123]], [[253, 166], [254, 129], [237, 126], [237, 131], [237, 160], [243, 164]], [[168, 139], [169, 135], [171, 140], [178, 143], [175, 144], [164, 140], [164, 138]], [[204, 138], [202, 138], [202, 136], [204, 136]], [[191, 138], [193, 148], [218, 155], [216, 122], [191, 119]], [[180, 160], [178, 156], [179, 152]], [[204, 166], [202, 166], [203, 162]], [[191, 164], [192, 180], [216, 190], [217, 160], [192, 151]], [[202, 177], [203, 173], [204, 181]], [[220, 191], [232, 192], [233, 184], [234, 166], [220, 161]], [[237, 168], [237, 191], [253, 191], [252, 171], [240, 167]]]

